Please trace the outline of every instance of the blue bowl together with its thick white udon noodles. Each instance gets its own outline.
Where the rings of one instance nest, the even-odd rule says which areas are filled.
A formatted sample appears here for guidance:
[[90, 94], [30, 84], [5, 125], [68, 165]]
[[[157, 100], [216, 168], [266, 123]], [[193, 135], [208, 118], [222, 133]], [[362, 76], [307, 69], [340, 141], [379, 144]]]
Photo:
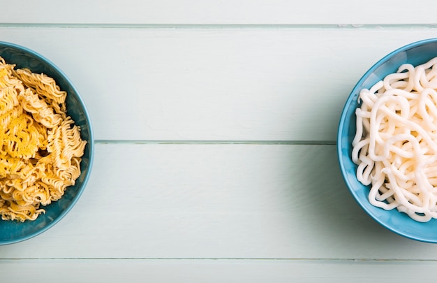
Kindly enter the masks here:
[[394, 50], [357, 82], [341, 113], [343, 179], [376, 222], [437, 243], [437, 38]]

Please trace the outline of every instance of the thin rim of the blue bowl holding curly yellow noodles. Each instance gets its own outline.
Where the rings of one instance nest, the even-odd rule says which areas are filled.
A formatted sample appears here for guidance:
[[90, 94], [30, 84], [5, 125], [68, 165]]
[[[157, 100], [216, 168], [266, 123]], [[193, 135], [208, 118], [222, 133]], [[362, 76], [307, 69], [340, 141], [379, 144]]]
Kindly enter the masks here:
[[[84, 180], [82, 182], [82, 185], [77, 190], [77, 194], [72, 198], [70, 204], [64, 210], [62, 210], [62, 212], [59, 213], [59, 215], [49, 224], [43, 226], [42, 228], [39, 228], [37, 231], [34, 231], [33, 233], [29, 233], [28, 235], [24, 235], [22, 237], [15, 238], [13, 240], [0, 240], [0, 246], [1, 246], [1, 245], [11, 245], [11, 244], [15, 244], [17, 242], [22, 242], [24, 240], [29, 240], [31, 238], [36, 237], [37, 235], [40, 235], [41, 233], [44, 233], [48, 229], [52, 228], [55, 224], [59, 223], [59, 221], [61, 221], [61, 219], [63, 219], [68, 214], [68, 212], [70, 212], [73, 209], [73, 207], [75, 206], [75, 204], [79, 200], [80, 196], [82, 196], [82, 193], [83, 193], [85, 187], [87, 187], [87, 183], [88, 183], [89, 177], [91, 175], [91, 169], [93, 168], [93, 163], [94, 163], [94, 131], [93, 131], [92, 123], [91, 123], [91, 117], [89, 116], [89, 111], [88, 111], [87, 106], [85, 105], [85, 103], [82, 99], [82, 96], [81, 96], [79, 90], [73, 84], [71, 79], [68, 78], [66, 73], [64, 73], [64, 71], [62, 71], [61, 68], [59, 68], [59, 66], [57, 66], [57, 64], [54, 64], [50, 59], [47, 59], [47, 57], [40, 55], [40, 53], [38, 53], [34, 50], [31, 50], [27, 47], [24, 47], [22, 45], [18, 45], [16, 43], [0, 41], [0, 47], [14, 48], [16, 50], [20, 50], [22, 52], [29, 53], [30, 55], [37, 57], [38, 59], [43, 61], [45, 64], [51, 66], [54, 69], [54, 71], [56, 71], [61, 77], [63, 77], [64, 80], [66, 80], [66, 82], [68, 83], [68, 85], [70, 85], [70, 87], [75, 91], [75, 94], [76, 94], [75, 99], [80, 103], [80, 106], [82, 106], [82, 108], [84, 110], [84, 116], [86, 117], [87, 127], [89, 129], [88, 130], [89, 131], [89, 140], [87, 140], [87, 144], [89, 147], [88, 170], [87, 170], [86, 175], [84, 176]], [[13, 63], [11, 63], [11, 64], [13, 64]], [[4, 220], [0, 219], [0, 221], [4, 221]]]

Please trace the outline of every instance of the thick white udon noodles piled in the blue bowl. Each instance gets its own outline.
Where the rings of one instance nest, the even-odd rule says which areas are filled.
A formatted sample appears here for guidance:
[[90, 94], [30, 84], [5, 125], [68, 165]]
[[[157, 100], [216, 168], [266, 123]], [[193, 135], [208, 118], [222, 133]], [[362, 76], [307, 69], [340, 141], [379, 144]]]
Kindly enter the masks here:
[[437, 57], [362, 89], [352, 159], [369, 201], [418, 222], [437, 218]]

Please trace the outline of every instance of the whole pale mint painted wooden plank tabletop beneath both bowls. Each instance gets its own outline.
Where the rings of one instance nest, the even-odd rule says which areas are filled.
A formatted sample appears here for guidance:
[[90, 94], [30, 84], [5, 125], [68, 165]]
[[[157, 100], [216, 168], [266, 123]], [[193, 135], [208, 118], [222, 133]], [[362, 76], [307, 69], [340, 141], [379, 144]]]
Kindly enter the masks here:
[[0, 282], [436, 279], [437, 245], [367, 216], [335, 147], [361, 75], [437, 37], [436, 1], [0, 0], [0, 9], [0, 41], [54, 61], [96, 136], [80, 201], [49, 231], [0, 247]]

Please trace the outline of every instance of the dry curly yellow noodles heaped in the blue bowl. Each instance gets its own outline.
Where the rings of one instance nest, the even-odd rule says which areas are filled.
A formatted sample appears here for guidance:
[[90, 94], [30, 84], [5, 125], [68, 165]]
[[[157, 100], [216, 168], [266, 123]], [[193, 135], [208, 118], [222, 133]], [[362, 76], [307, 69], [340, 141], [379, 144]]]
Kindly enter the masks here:
[[86, 141], [53, 78], [0, 57], [0, 215], [35, 220], [80, 176]]

